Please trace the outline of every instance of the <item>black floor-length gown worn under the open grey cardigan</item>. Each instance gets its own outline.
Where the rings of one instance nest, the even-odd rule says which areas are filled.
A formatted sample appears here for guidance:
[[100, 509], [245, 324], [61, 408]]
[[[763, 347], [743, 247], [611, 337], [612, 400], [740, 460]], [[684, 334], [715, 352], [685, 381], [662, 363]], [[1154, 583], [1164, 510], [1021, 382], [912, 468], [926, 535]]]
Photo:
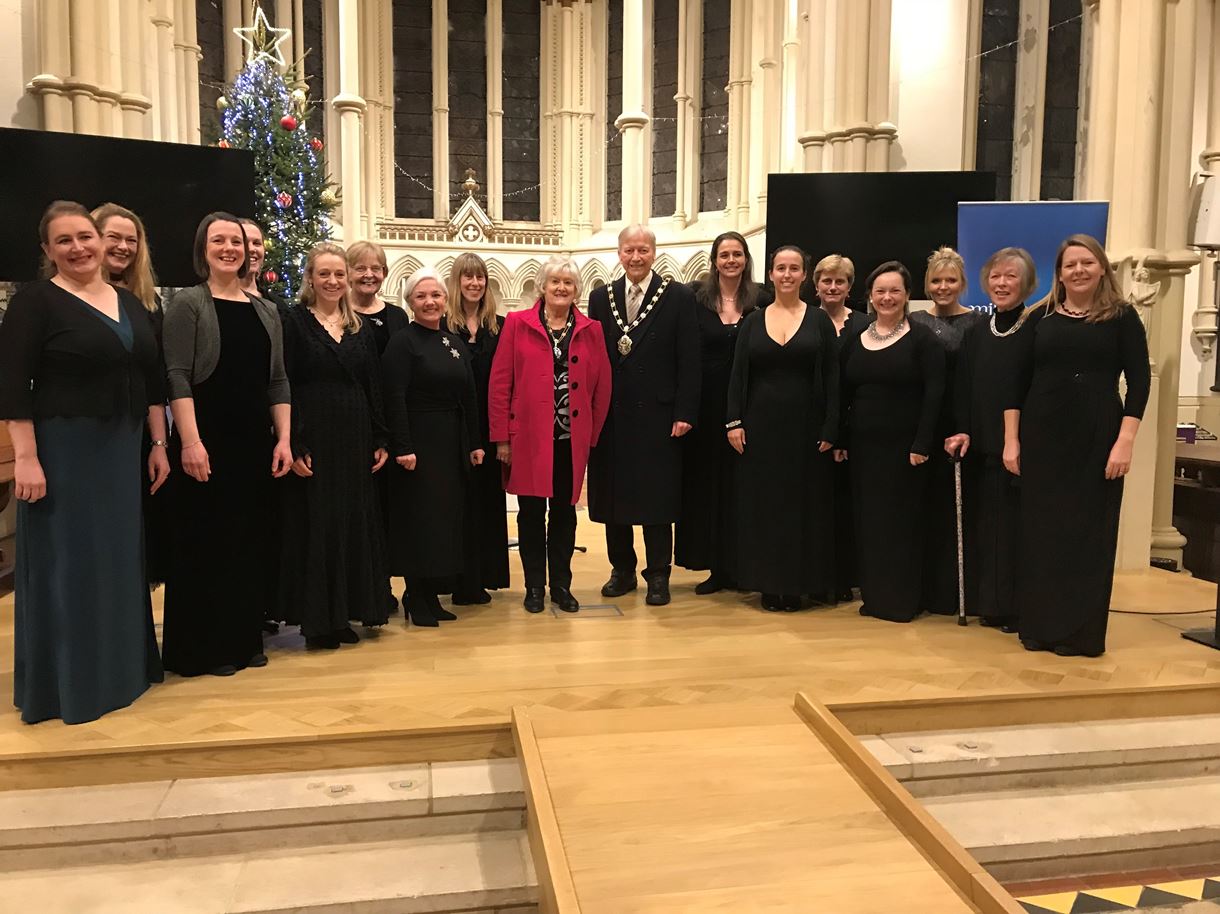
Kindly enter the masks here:
[[262, 653], [272, 542], [271, 338], [249, 300], [215, 299], [221, 354], [192, 387], [211, 476], [182, 469], [170, 443], [174, 550], [165, 592], [165, 669], [199, 676], [244, 669]]

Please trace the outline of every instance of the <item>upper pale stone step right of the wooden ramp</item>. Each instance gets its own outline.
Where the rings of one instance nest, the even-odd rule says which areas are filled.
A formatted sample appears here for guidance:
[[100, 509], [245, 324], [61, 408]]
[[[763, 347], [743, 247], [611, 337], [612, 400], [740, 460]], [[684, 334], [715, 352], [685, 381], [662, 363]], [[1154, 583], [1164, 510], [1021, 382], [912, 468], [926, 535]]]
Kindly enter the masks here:
[[882, 733], [863, 742], [917, 797], [1220, 772], [1220, 715]]

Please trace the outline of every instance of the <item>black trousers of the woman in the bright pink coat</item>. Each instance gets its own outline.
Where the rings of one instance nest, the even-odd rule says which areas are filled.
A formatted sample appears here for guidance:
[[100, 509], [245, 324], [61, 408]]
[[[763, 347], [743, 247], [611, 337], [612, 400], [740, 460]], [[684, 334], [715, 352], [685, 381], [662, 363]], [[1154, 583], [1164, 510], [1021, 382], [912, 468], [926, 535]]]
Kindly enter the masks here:
[[[555, 442], [551, 461], [551, 498], [517, 495], [517, 552], [526, 587], [572, 586], [576, 548], [576, 505], [572, 500], [572, 441]], [[549, 502], [549, 510], [548, 510]]]

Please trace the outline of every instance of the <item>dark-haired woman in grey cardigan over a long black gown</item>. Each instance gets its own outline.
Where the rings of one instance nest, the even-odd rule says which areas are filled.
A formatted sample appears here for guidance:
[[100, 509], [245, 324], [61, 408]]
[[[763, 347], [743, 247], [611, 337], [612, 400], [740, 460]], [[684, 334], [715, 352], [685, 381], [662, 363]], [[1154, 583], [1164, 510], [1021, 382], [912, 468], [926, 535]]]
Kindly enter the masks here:
[[[214, 212], [195, 233], [204, 279], [170, 300], [165, 359], [173, 411], [173, 560], [165, 666], [232, 676], [265, 666], [271, 480], [292, 467], [288, 377], [276, 309], [248, 295], [245, 229]], [[272, 427], [274, 434], [272, 434]]]

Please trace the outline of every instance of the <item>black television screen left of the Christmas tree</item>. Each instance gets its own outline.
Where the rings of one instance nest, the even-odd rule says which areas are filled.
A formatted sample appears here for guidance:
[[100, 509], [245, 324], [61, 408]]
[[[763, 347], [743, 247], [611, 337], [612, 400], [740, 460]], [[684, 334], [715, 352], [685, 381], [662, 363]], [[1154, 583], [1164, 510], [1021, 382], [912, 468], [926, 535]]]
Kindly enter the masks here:
[[254, 155], [238, 149], [0, 128], [0, 281], [38, 277], [38, 220], [52, 200], [117, 203], [148, 232], [161, 286], [199, 282], [195, 227], [209, 212], [254, 215]]

